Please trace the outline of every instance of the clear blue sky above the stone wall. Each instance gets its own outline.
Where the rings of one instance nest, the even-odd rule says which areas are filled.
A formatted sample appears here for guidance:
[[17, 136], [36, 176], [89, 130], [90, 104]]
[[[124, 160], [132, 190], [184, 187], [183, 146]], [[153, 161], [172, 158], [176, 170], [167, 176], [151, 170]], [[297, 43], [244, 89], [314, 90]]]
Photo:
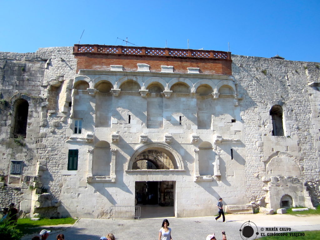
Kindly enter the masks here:
[[[2, 0], [0, 51], [80, 44], [230, 51], [320, 61], [320, 0]], [[128, 44], [129, 46], [130, 44]]]

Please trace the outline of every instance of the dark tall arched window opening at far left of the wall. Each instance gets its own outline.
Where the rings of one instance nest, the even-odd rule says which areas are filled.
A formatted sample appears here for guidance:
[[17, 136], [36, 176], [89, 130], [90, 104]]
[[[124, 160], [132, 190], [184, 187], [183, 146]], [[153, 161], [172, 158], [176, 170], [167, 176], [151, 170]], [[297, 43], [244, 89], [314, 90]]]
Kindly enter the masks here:
[[25, 99], [18, 99], [13, 105], [13, 137], [27, 136], [27, 123], [28, 123], [28, 111], [29, 103]]

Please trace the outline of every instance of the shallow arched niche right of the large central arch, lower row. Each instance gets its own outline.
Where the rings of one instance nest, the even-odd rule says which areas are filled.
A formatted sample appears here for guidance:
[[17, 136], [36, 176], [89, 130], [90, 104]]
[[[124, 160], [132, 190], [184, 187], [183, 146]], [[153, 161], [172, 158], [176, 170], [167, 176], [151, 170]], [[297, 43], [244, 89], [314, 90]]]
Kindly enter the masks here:
[[200, 176], [213, 176], [213, 161], [215, 154], [210, 142], [199, 144], [199, 174]]

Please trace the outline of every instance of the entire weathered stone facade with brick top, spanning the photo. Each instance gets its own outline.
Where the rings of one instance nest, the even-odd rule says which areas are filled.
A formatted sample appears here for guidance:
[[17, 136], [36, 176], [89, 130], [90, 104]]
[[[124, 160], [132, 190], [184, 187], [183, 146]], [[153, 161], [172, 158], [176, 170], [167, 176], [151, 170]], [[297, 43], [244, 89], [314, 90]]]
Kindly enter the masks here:
[[2, 52], [0, 73], [1, 207], [100, 218], [142, 203], [212, 215], [219, 197], [240, 212], [319, 204], [318, 63], [75, 45]]

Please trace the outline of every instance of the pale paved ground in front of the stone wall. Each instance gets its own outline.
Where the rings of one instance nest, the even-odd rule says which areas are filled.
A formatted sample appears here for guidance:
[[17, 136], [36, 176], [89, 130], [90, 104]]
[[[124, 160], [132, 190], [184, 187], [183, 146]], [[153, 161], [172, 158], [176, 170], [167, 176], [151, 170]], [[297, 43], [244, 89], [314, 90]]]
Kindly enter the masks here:
[[[221, 217], [222, 218], [222, 217]], [[193, 238], [205, 240], [208, 234], [215, 233], [217, 239], [222, 239], [221, 231], [226, 231], [228, 240], [241, 240], [239, 229], [243, 229], [250, 220], [254, 231], [261, 233], [282, 233], [280, 227], [291, 228], [291, 231], [304, 232], [307, 230], [320, 230], [320, 215], [292, 216], [286, 214], [263, 215], [263, 214], [227, 214], [226, 223], [215, 222], [212, 217], [195, 218], [167, 218], [172, 228], [173, 240], [186, 240]], [[140, 219], [140, 220], [111, 220], [111, 219], [79, 219], [73, 226], [52, 228], [52, 235], [47, 240], [54, 240], [59, 233], [65, 235], [66, 240], [99, 240], [101, 236], [113, 233], [116, 240], [133, 238], [157, 240], [163, 218]], [[255, 225], [257, 228], [255, 228]], [[266, 229], [276, 227], [277, 229]], [[269, 231], [268, 231], [269, 230]], [[30, 240], [32, 236], [26, 236], [23, 240]], [[245, 239], [245, 238], [244, 238]], [[248, 240], [253, 237], [248, 238]], [[320, 238], [319, 238], [320, 239]]]

